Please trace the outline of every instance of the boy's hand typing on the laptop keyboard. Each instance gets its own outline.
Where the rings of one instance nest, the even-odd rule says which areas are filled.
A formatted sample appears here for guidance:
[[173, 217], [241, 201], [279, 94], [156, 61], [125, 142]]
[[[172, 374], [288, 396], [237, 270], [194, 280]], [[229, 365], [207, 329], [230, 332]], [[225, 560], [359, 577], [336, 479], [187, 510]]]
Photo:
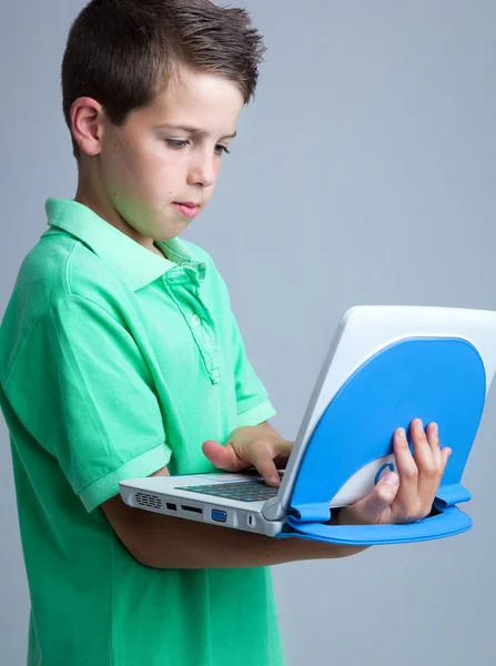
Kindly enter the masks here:
[[225, 446], [207, 440], [203, 453], [211, 463], [226, 472], [256, 467], [269, 486], [281, 485], [277, 467], [285, 467], [293, 442], [283, 440], [269, 423], [237, 427]]

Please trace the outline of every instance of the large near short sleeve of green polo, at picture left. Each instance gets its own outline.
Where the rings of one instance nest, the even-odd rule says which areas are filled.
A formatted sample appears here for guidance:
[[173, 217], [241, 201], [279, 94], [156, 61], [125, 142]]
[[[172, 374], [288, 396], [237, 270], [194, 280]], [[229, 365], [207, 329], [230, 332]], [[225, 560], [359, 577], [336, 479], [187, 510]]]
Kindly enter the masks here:
[[71, 295], [38, 320], [3, 390], [91, 511], [119, 493], [119, 481], [169, 463], [153, 386], [125, 322]]

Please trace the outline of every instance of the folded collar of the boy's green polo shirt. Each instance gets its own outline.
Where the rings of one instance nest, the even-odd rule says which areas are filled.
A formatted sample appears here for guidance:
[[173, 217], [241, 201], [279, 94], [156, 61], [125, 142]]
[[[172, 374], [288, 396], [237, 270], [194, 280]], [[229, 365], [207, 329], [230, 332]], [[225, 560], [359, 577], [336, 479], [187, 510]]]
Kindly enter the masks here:
[[112, 264], [133, 291], [178, 265], [195, 269], [200, 280], [204, 276], [205, 264], [199, 262], [178, 238], [155, 241], [173, 260], [170, 261], [150, 252], [78, 201], [52, 196], [47, 200], [44, 208], [49, 225], [63, 229], [85, 243], [98, 256]]

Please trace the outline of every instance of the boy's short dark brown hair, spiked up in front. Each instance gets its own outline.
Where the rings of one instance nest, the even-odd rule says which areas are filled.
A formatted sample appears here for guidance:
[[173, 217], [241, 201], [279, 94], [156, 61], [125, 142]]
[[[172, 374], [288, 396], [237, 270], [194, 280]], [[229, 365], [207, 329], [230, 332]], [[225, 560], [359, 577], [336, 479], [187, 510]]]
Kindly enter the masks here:
[[[265, 47], [244, 9], [210, 0], [91, 0], [72, 23], [62, 61], [63, 113], [80, 97], [111, 122], [150, 103], [178, 65], [217, 73], [254, 97]], [[74, 157], [79, 145], [72, 138]]]

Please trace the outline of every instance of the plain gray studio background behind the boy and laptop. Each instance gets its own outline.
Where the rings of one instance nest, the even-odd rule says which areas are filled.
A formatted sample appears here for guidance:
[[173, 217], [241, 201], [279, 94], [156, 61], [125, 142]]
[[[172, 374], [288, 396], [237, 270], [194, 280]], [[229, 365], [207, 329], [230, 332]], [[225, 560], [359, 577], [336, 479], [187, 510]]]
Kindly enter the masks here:
[[[294, 437], [348, 306], [496, 309], [496, 3], [242, 4], [266, 62], [219, 191], [185, 238], [230, 284], [273, 423]], [[82, 6], [2, 8], [0, 315], [44, 200], [75, 193], [59, 70]], [[465, 475], [472, 532], [275, 567], [291, 666], [496, 662], [495, 424], [496, 392]], [[0, 443], [0, 663], [21, 666], [29, 603], [3, 423]]]

